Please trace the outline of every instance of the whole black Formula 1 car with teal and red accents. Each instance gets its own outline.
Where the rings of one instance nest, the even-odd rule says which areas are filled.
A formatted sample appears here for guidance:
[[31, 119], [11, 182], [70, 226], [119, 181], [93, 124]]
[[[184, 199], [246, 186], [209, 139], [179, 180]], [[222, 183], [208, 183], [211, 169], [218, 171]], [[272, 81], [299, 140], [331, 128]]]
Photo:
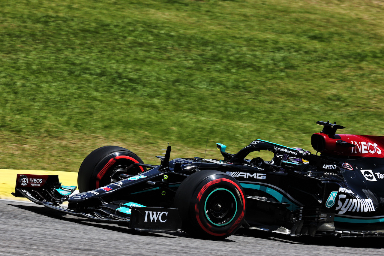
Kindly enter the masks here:
[[[58, 176], [18, 174], [14, 196], [137, 231], [221, 239], [238, 228], [300, 236], [383, 236], [384, 137], [335, 134], [323, 121], [311, 144], [321, 155], [254, 140], [223, 160], [176, 158], [158, 166], [104, 146], [83, 161], [76, 186]], [[271, 153], [271, 159], [252, 157]], [[68, 202], [68, 207], [61, 206]]]

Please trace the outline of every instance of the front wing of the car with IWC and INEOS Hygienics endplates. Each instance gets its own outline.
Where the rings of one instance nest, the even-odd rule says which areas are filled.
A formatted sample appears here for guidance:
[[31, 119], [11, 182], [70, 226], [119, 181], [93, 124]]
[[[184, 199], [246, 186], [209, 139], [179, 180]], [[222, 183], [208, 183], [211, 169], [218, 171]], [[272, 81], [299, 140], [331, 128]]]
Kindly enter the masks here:
[[[147, 207], [128, 201], [116, 201], [96, 206], [84, 213], [68, 209], [61, 204], [74, 192], [76, 186], [61, 186], [57, 175], [20, 175], [16, 181], [17, 197], [61, 213], [90, 219], [99, 223], [113, 223], [143, 232], [181, 232], [178, 209]], [[38, 183], [28, 183], [28, 181]], [[30, 184], [30, 186], [28, 186]]]

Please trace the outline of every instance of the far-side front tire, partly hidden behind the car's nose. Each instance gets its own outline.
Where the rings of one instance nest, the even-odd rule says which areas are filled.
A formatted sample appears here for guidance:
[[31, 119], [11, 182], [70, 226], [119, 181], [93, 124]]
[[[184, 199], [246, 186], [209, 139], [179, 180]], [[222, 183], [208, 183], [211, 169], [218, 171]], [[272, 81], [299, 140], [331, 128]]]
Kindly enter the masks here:
[[[111, 175], [116, 168], [124, 169], [133, 163], [144, 162], [132, 151], [119, 146], [103, 146], [92, 151], [79, 168], [77, 184], [80, 193], [111, 184]], [[145, 167], [132, 166], [126, 174], [137, 175], [143, 171], [146, 171]]]

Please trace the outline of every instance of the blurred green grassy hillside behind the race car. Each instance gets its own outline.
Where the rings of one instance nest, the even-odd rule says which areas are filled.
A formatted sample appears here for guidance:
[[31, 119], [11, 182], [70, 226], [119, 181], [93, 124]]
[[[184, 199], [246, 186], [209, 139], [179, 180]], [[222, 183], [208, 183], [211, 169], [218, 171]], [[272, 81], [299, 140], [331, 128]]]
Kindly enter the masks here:
[[[0, 2], [0, 168], [147, 163], [255, 138], [311, 150], [318, 120], [384, 135], [384, 2]], [[313, 150], [312, 150], [313, 151]]]

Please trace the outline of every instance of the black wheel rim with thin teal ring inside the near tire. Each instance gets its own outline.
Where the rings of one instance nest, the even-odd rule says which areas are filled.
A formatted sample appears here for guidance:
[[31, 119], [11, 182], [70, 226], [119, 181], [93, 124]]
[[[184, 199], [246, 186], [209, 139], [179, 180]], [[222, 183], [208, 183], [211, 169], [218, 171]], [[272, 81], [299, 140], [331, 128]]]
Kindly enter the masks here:
[[215, 226], [224, 226], [235, 218], [237, 213], [236, 197], [225, 188], [216, 188], [205, 199], [204, 211], [205, 217], [210, 223]]

